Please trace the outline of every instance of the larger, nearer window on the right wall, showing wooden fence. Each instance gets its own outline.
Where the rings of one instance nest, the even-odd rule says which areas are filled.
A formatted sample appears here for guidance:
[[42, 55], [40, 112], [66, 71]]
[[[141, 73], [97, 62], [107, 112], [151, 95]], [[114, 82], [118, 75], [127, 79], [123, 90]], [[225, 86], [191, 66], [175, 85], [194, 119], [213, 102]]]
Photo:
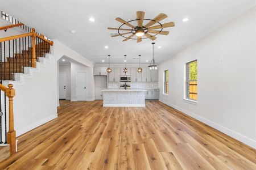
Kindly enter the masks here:
[[188, 62], [186, 68], [186, 98], [197, 100], [197, 60]]

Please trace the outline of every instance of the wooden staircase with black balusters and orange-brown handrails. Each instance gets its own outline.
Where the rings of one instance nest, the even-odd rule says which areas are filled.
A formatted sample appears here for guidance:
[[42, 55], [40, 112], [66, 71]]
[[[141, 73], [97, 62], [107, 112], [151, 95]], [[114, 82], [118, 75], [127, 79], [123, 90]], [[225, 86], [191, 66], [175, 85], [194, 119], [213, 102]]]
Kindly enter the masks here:
[[[19, 80], [20, 74], [36, 67], [36, 62], [45, 60], [51, 53], [53, 42], [34, 28], [19, 22], [12, 16], [1, 11], [2, 19], [10, 25], [0, 27], [0, 31], [19, 27], [27, 33], [10, 37], [0, 37], [0, 162], [16, 152], [16, 131], [14, 130], [13, 84], [8, 87], [3, 83]], [[16, 77], [15, 77], [16, 75]], [[26, 74], [24, 74], [26, 75]], [[7, 82], [3, 82], [6, 81]]]

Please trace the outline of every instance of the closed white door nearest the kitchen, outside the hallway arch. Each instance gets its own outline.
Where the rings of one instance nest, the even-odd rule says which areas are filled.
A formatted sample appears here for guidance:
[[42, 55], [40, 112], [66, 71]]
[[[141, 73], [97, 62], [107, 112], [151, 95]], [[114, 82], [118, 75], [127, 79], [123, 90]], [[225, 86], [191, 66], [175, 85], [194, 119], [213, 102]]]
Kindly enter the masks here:
[[77, 72], [76, 74], [76, 96], [77, 101], [87, 100], [86, 72]]

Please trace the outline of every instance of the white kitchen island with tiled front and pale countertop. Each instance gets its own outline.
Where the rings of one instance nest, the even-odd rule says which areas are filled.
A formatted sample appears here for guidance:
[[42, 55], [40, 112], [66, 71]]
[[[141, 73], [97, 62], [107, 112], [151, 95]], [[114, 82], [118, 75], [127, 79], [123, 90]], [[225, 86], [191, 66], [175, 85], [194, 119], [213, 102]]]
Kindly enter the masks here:
[[147, 90], [108, 88], [102, 92], [103, 107], [145, 107]]

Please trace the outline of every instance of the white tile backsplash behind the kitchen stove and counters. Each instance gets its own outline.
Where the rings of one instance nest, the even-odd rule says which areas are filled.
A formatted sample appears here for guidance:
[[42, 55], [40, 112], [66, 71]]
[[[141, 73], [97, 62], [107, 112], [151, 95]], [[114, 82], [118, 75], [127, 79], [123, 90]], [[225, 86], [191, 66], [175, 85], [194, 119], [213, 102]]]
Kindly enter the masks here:
[[[125, 82], [108, 82], [108, 88], [120, 88]], [[131, 88], [159, 88], [158, 82], [127, 82]]]

